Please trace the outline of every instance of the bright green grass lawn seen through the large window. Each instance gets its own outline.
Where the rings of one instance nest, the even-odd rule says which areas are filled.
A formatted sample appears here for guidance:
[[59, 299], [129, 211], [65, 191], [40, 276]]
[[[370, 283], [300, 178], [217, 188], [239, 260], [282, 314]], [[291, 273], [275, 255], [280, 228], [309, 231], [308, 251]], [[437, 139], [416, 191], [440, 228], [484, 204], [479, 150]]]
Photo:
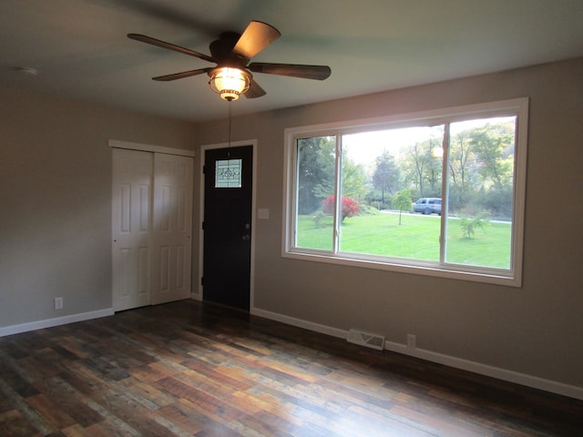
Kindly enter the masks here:
[[[344, 219], [340, 249], [343, 252], [384, 255], [397, 258], [439, 260], [439, 216], [380, 213]], [[491, 223], [466, 239], [459, 220], [448, 219], [446, 261], [465, 265], [509, 269], [511, 226]], [[332, 217], [316, 227], [312, 216], [298, 218], [298, 247], [332, 249]]]

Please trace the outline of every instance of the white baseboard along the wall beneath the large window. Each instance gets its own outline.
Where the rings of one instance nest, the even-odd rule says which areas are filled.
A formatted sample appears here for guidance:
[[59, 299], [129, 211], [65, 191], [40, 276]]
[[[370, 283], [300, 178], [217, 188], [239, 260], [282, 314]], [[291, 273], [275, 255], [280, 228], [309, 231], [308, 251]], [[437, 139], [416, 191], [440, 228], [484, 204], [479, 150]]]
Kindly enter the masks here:
[[[251, 310], [251, 314], [263, 317], [265, 319], [281, 321], [282, 323], [286, 323], [288, 325], [297, 326], [298, 328], [303, 328], [305, 330], [313, 330], [314, 332], [320, 332], [322, 334], [330, 335], [340, 339], [346, 339], [348, 337], [348, 330], [339, 330], [330, 326], [313, 323], [312, 321], [296, 319], [271, 311], [254, 308]], [[407, 348], [406, 344], [395, 343], [388, 340], [384, 341], [384, 349], [387, 351], [403, 353], [404, 355], [409, 355], [421, 360], [444, 364], [445, 366], [453, 367], [455, 369], [471, 371], [473, 373], [489, 376], [498, 380], [514, 382], [520, 385], [531, 387], [533, 389], [548, 391], [583, 401], [583, 388], [574, 385], [568, 385], [557, 381], [550, 381], [543, 378], [538, 378], [537, 376], [519, 373], [517, 371], [508, 371], [506, 369], [501, 369], [476, 361], [468, 361], [434, 351], [426, 351], [424, 349], [418, 348], [409, 349]]]

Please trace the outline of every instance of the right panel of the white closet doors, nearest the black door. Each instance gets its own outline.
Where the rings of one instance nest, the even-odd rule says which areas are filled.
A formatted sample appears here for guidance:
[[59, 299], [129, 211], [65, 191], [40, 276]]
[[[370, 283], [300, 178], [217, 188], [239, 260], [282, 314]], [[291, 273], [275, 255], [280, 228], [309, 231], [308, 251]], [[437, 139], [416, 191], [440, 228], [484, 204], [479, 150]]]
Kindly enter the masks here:
[[151, 303], [190, 297], [193, 159], [154, 154]]

